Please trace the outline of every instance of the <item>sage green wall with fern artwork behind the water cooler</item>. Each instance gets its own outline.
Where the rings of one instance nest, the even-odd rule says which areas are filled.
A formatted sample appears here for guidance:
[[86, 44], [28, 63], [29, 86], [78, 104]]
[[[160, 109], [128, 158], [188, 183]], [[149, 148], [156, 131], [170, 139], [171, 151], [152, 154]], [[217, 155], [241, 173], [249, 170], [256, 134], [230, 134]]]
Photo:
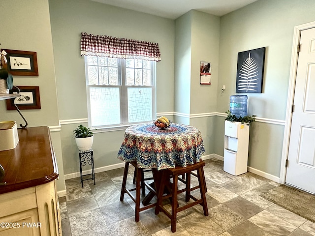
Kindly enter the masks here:
[[[258, 0], [221, 17], [218, 112], [229, 109], [235, 94], [237, 53], [266, 47], [262, 93], [247, 93], [249, 115], [284, 120], [293, 29], [315, 21], [314, 0]], [[218, 118], [216, 153], [223, 155], [224, 118]], [[221, 127], [221, 128], [218, 128]], [[284, 125], [254, 122], [250, 130], [249, 166], [280, 177]]]

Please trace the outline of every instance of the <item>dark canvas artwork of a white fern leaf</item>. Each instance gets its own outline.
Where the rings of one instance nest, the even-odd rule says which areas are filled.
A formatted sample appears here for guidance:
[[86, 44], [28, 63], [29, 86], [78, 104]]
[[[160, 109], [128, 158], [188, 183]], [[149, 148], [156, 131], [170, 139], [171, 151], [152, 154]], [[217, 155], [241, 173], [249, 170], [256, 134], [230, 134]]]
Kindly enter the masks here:
[[264, 47], [238, 53], [236, 92], [262, 92], [265, 51]]

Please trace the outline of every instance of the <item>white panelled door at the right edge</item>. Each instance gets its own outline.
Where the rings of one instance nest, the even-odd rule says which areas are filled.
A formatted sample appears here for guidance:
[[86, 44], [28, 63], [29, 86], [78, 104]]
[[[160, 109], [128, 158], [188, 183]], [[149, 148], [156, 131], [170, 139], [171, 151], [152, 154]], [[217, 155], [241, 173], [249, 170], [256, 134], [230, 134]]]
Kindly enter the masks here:
[[315, 28], [301, 31], [285, 183], [315, 193]]

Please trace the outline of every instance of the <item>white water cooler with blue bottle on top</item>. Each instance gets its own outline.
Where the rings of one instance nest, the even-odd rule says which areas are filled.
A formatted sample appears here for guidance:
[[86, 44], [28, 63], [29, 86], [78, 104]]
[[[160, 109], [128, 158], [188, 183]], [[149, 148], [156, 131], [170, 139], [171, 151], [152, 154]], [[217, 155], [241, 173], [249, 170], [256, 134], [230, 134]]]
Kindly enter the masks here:
[[[247, 96], [230, 97], [230, 111], [236, 117], [247, 116]], [[250, 126], [225, 120], [223, 170], [238, 176], [247, 172]]]

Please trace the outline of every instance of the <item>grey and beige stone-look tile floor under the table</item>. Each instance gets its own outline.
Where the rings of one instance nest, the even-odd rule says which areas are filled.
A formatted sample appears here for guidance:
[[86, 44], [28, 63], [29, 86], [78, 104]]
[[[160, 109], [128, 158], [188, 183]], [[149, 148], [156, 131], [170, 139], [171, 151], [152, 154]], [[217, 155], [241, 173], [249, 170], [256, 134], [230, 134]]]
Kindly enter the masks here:
[[[120, 168], [96, 173], [96, 185], [87, 180], [83, 188], [80, 178], [66, 180], [67, 196], [59, 199], [63, 236], [315, 236], [315, 223], [259, 196], [276, 182], [250, 172], [229, 175], [215, 158], [205, 162], [209, 216], [200, 205], [178, 213], [176, 233], [170, 219], [162, 212], [155, 215], [154, 208], [140, 212], [136, 223], [133, 201], [127, 194], [120, 201]], [[131, 165], [129, 175], [127, 184], [132, 184]]]

